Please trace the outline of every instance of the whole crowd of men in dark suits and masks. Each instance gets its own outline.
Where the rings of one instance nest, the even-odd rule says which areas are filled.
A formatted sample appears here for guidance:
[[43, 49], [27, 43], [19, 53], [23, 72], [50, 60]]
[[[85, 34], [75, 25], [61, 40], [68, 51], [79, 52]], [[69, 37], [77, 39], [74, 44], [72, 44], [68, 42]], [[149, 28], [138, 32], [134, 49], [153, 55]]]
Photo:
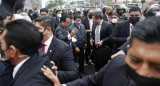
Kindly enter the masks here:
[[[1, 20], [0, 86], [160, 85], [158, 14], [110, 6], [83, 13], [53, 17], [43, 8]], [[96, 72], [82, 78], [85, 63]]]

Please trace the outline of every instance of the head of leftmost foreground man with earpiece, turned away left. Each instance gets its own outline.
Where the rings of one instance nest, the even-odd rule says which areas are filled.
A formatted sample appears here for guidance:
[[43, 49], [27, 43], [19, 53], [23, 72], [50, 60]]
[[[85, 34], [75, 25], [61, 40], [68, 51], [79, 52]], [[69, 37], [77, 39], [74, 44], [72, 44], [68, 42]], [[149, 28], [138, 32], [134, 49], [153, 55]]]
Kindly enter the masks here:
[[7, 23], [0, 41], [4, 59], [9, 60], [14, 66], [37, 53], [41, 46], [39, 32], [32, 23], [26, 20]]

